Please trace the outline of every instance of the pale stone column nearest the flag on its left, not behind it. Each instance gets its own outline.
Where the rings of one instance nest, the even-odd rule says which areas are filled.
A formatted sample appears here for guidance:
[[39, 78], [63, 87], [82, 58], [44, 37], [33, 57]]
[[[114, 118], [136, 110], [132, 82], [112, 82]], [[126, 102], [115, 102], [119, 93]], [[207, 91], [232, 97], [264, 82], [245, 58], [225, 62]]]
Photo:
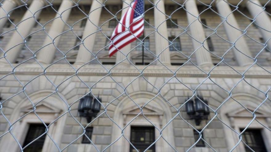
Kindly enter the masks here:
[[[91, 60], [91, 53], [95, 43], [96, 31], [99, 25], [99, 20], [102, 12], [103, 0], [94, 0], [91, 4], [89, 18], [87, 19], [86, 27], [83, 32], [84, 44], [81, 44], [76, 57], [75, 64], [85, 64]], [[92, 22], [90, 22], [90, 21]]]

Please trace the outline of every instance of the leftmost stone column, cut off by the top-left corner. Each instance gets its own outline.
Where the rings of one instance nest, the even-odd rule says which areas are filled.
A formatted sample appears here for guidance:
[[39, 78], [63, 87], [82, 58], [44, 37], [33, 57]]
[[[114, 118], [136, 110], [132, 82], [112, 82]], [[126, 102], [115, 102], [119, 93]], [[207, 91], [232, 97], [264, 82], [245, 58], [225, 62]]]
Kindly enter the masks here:
[[5, 0], [2, 4], [3, 5], [0, 7], [0, 31], [3, 30], [3, 26], [6, 24], [6, 21], [8, 19], [6, 17], [7, 13], [9, 13], [10, 10], [14, 9], [17, 6], [14, 0]]

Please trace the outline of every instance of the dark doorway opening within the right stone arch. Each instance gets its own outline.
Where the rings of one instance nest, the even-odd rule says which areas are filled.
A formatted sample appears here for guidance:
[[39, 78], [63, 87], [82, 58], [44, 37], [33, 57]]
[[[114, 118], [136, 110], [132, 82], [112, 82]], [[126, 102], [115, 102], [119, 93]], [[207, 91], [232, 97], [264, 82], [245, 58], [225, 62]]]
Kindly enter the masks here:
[[[240, 131], [243, 131], [244, 129], [240, 129]], [[242, 134], [242, 140], [254, 151], [257, 152], [266, 152], [264, 140], [261, 136], [261, 130], [260, 129], [247, 129]], [[245, 146], [246, 152], [250, 152], [251, 150]]]

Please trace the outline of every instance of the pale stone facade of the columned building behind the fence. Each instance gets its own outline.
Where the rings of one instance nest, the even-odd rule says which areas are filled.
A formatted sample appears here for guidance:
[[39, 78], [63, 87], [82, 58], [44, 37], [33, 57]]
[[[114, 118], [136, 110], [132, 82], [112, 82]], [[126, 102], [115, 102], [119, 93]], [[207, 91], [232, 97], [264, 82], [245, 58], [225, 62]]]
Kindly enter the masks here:
[[[53, 5], [55, 10], [58, 10], [58, 5]], [[148, 6], [149, 5], [149, 6]], [[148, 4], [146, 7], [151, 8]], [[106, 5], [107, 6], [107, 5]], [[117, 13], [122, 7], [121, 3], [111, 4], [107, 9], [112, 14]], [[178, 9], [177, 6], [165, 1], [166, 14], [170, 15], [172, 11]], [[90, 4], [84, 2], [84, 6], [80, 9], [88, 14]], [[198, 4], [199, 12], [205, 10], [206, 7]], [[251, 17], [246, 7], [241, 7], [242, 13], [235, 11], [236, 18], [240, 28], [244, 30], [251, 23], [245, 17]], [[216, 10], [216, 9], [214, 9]], [[16, 9], [10, 15], [14, 24], [17, 24], [26, 10]], [[144, 18], [149, 21], [150, 26], [144, 30], [144, 35], [155, 31], [151, 26], [154, 24], [154, 10], [147, 11]], [[177, 24], [186, 29], [188, 26], [188, 19], [184, 9], [180, 9], [173, 13], [172, 19], [177, 20]], [[55, 53], [54, 61], [58, 61], [64, 57], [63, 53], [73, 48], [76, 43], [77, 36], [83, 35], [84, 27], [80, 27], [82, 21], [80, 19], [86, 17], [78, 7], [71, 10], [71, 14], [67, 20], [67, 24], [72, 26], [73, 30], [66, 25], [61, 34], [60, 41], [57, 46], [59, 50]], [[109, 28], [109, 21], [114, 16], [110, 15], [107, 10], [102, 9], [99, 19], [99, 26], [102, 32], [97, 32], [95, 37], [95, 45], [93, 53], [97, 55], [99, 62], [115, 62], [112, 58], [108, 58], [108, 51], [102, 49], [106, 46], [106, 37], [111, 36], [114, 28]], [[121, 18], [121, 11], [117, 13], [116, 17]], [[43, 9], [39, 15], [38, 22], [43, 26], [48, 33], [52, 22], [48, 22], [55, 18], [55, 11], [51, 7]], [[221, 23], [220, 17], [212, 12], [210, 9], [200, 14], [201, 19], [205, 19], [209, 28], [204, 28], [205, 37], [210, 36], [213, 49], [212, 53], [222, 57], [224, 53], [231, 47], [230, 44], [224, 41], [221, 37], [228, 40], [227, 34]], [[114, 19], [113, 19], [114, 20]], [[79, 21], [79, 22], [77, 22]], [[77, 23], [76, 23], [77, 22]], [[76, 24], [75, 24], [76, 23]], [[162, 136], [167, 142], [174, 147], [175, 150], [183, 152], [187, 151], [197, 139], [194, 138], [194, 129], [203, 129], [205, 147], [194, 146], [190, 151], [193, 152], [207, 152], [220, 151], [226, 152], [231, 150], [239, 141], [238, 135], [228, 126], [240, 132], [241, 128], [245, 128], [249, 124], [249, 120], [253, 119], [251, 113], [247, 113], [247, 109], [254, 111], [259, 105], [262, 105], [257, 110], [257, 121], [251, 123], [252, 128], [262, 130], [263, 138], [265, 140], [266, 149], [270, 152], [271, 147], [271, 104], [270, 104], [270, 70], [271, 58], [270, 51], [263, 50], [257, 56], [257, 63], [248, 69], [247, 66], [238, 66], [237, 58], [233, 51], [229, 51], [224, 55], [224, 61], [231, 67], [224, 63], [215, 67], [208, 77], [210, 67], [202, 68], [201, 71], [191, 62], [188, 62], [180, 69], [177, 65], [169, 65], [168, 68], [156, 65], [154, 62], [148, 68], [144, 69], [144, 65], [134, 65], [127, 67], [116, 66], [110, 71], [113, 65], [103, 65], [103, 68], [97, 60], [93, 60], [89, 64], [73, 65], [76, 59], [78, 50], [72, 49], [66, 56], [67, 60], [73, 65], [67, 64], [67, 61], [62, 59], [59, 62], [49, 66], [46, 70], [42, 69], [36, 61], [32, 58], [27, 62], [21, 62], [33, 57], [33, 52], [40, 49], [47, 37], [41, 25], [34, 25], [30, 33], [31, 38], [26, 42], [27, 48], [24, 48], [12, 66], [18, 65], [15, 71], [12, 72], [10, 65], [1, 63], [0, 65], [0, 92], [1, 98], [5, 102], [2, 103], [0, 115], [0, 138], [1, 151], [18, 151], [19, 146], [11, 136], [9, 131], [10, 124], [13, 125], [11, 133], [22, 145], [26, 136], [27, 129], [31, 123], [42, 123], [40, 119], [46, 124], [50, 124], [48, 135], [45, 140], [45, 145], [42, 151], [58, 151], [55, 144], [64, 152], [73, 151], [128, 151], [129, 143], [125, 138], [121, 137], [121, 129], [119, 127], [126, 127], [123, 131], [124, 136], [130, 137], [131, 126], [152, 126], [142, 115], [130, 122], [135, 113], [140, 113], [136, 104], [143, 106], [143, 113], [146, 111], [146, 117], [159, 130], [163, 129]], [[219, 25], [219, 26], [218, 26]], [[218, 26], [218, 27], [217, 27]], [[11, 25], [9, 28], [4, 27], [3, 32], [14, 28]], [[216, 28], [216, 33], [212, 29]], [[176, 37], [185, 30], [181, 28], [168, 28], [168, 37]], [[38, 31], [39, 30], [39, 31]], [[38, 31], [38, 32], [36, 32]], [[250, 25], [245, 36], [246, 44], [254, 58], [259, 51], [264, 47], [256, 41], [261, 41], [261, 33], [259, 28]], [[2, 33], [3, 33], [2, 32]], [[8, 32], [2, 35], [0, 48], [1, 50], [9, 43], [13, 32]], [[189, 28], [187, 33], [180, 35], [181, 52], [186, 56], [190, 56], [195, 50], [192, 44], [192, 38]], [[270, 34], [270, 32], [269, 32]], [[148, 35], [150, 51], [156, 53], [156, 44], [154, 33]], [[256, 41], [254, 41], [254, 40]], [[131, 44], [131, 48], [136, 46], [136, 42]], [[102, 50], [101, 50], [102, 49]], [[101, 50], [101, 51], [100, 51]], [[6, 51], [6, 50], [4, 50]], [[61, 51], [61, 52], [60, 52]], [[131, 52], [131, 62], [136, 64], [140, 60], [141, 51]], [[184, 55], [178, 51], [170, 51], [172, 62], [180, 60], [177, 63], [184, 63], [188, 60]], [[209, 53], [211, 54], [211, 53]], [[2, 55], [2, 54], [1, 54]], [[148, 60], [155, 60], [156, 57], [146, 51]], [[139, 56], [139, 59], [138, 59]], [[2, 56], [1, 56], [2, 57]], [[134, 57], [134, 58], [133, 58]], [[220, 62], [220, 59], [211, 56], [214, 64]], [[91, 59], [95, 57], [92, 55]], [[0, 60], [4, 60], [1, 58]], [[191, 61], [197, 64], [195, 54], [191, 56]], [[48, 66], [49, 64], [44, 64]], [[45, 66], [45, 67], [46, 67]], [[141, 74], [140, 70], [143, 70]], [[233, 70], [234, 69], [234, 70]], [[266, 71], [265, 71], [266, 70]], [[239, 72], [239, 73], [238, 73]], [[242, 73], [245, 72], [244, 76]], [[78, 73], [78, 74], [76, 74]], [[208, 77], [208, 78], [207, 78]], [[244, 77], [244, 79], [242, 78]], [[196, 126], [194, 120], [190, 120], [186, 113], [185, 105], [183, 104], [187, 96], [193, 95], [192, 89], [204, 96], [208, 100], [209, 106], [214, 110], [210, 110], [211, 114], [206, 121], [202, 121], [200, 126]], [[77, 108], [79, 98], [91, 89], [91, 93], [95, 96], [99, 95], [102, 99], [103, 106], [98, 114], [98, 118], [94, 119], [89, 127], [93, 127], [91, 141], [95, 144], [83, 144], [82, 134], [83, 127], [88, 123], [85, 118], [79, 117]], [[125, 92], [125, 93], [124, 93]], [[30, 102], [31, 101], [31, 102]], [[238, 102], [237, 102], [238, 101]], [[265, 102], [263, 102], [265, 101]], [[133, 103], [135, 102], [135, 103]], [[241, 103], [241, 104], [240, 104]], [[33, 104], [35, 104], [35, 113], [33, 112]], [[245, 106], [247, 109], [242, 107]], [[31, 113], [28, 113], [32, 111]], [[152, 114], [151, 114], [152, 113]], [[154, 114], [153, 114], [154, 113]], [[27, 114], [27, 115], [26, 115]], [[232, 115], [234, 114], [234, 115]], [[17, 121], [20, 119], [19, 121]], [[56, 121], [55, 121], [56, 120]], [[113, 123], [113, 121], [115, 123]], [[222, 122], [223, 123], [222, 123]], [[118, 126], [117, 126], [118, 125]], [[205, 127], [206, 126], [206, 127]], [[193, 129], [194, 128], [194, 129]], [[155, 138], [159, 138], [159, 130], [155, 130]], [[49, 138], [53, 139], [54, 142]], [[119, 139], [118, 139], [119, 138]], [[118, 140], [117, 140], [118, 139]], [[129, 138], [128, 138], [129, 139]], [[117, 140], [117, 141], [116, 141]], [[174, 151], [164, 139], [160, 138], [156, 142], [156, 151]], [[55, 143], [55, 144], [54, 144]], [[112, 144], [110, 147], [108, 145]], [[269, 146], [268, 146], [269, 145]], [[66, 147], [67, 146], [67, 147]], [[245, 150], [244, 144], [241, 142], [235, 149], [237, 152]]]

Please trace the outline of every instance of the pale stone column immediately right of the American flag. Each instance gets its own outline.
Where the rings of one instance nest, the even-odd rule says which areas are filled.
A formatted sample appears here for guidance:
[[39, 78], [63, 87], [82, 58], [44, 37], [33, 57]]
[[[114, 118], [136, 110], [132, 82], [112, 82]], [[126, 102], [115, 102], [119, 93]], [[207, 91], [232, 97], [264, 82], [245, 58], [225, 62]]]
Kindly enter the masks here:
[[[165, 4], [164, 0], [154, 0], [156, 7], [154, 8], [154, 25], [157, 28], [155, 32], [155, 52], [156, 55], [161, 53], [159, 56], [160, 62], [165, 65], [170, 65], [170, 53], [168, 47], [168, 28], [165, 22]], [[158, 61], [157, 61], [158, 62]], [[160, 64], [158, 62], [157, 64]]]

